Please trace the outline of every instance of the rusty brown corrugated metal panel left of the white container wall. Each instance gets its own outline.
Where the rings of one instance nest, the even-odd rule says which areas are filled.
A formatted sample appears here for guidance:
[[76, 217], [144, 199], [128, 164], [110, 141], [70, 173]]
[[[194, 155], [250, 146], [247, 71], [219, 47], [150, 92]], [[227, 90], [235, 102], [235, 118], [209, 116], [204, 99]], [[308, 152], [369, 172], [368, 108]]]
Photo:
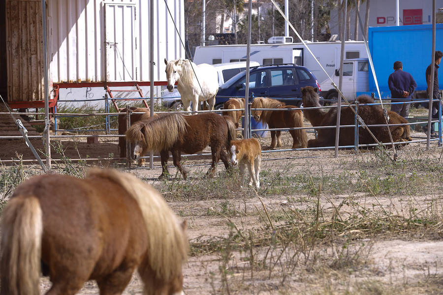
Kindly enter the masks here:
[[43, 100], [40, 0], [6, 0], [8, 101]]

